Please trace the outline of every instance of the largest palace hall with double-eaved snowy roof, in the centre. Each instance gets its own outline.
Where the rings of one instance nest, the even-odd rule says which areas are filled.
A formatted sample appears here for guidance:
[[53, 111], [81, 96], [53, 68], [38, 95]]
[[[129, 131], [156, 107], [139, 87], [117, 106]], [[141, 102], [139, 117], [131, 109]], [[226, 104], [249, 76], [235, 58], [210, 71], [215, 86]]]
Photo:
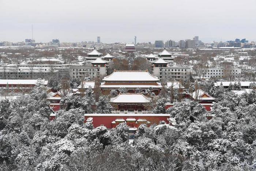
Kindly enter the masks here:
[[103, 95], [108, 95], [111, 90], [118, 88], [127, 88], [128, 93], [134, 93], [136, 88], [142, 91], [153, 88], [153, 92], [158, 95], [162, 85], [157, 77], [152, 76], [148, 71], [116, 71], [102, 79], [101, 84]]

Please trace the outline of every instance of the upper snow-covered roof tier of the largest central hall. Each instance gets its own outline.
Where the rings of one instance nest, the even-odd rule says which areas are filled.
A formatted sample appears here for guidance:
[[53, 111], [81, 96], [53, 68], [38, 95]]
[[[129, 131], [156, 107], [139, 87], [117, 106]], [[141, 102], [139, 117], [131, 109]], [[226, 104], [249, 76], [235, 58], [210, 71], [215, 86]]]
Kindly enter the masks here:
[[152, 76], [148, 71], [114, 71], [103, 81], [159, 81], [157, 77]]

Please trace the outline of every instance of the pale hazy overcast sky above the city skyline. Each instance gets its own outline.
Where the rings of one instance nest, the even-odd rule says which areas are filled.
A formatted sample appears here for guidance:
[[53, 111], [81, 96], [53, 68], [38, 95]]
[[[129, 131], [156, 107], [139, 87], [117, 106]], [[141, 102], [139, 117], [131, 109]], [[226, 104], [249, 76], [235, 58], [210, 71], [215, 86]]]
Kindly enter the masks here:
[[0, 0], [0, 42], [256, 41], [256, 0]]

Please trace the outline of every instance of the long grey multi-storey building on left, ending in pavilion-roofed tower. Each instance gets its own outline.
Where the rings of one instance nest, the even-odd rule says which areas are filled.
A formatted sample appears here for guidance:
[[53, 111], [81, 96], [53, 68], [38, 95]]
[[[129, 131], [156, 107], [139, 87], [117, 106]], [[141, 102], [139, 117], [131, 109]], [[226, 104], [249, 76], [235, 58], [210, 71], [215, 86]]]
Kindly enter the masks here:
[[[102, 62], [100, 60], [98, 62]], [[97, 61], [96, 61], [97, 62]], [[106, 76], [106, 61], [90, 64], [25, 64], [0, 66], [0, 79], [58, 79]]]

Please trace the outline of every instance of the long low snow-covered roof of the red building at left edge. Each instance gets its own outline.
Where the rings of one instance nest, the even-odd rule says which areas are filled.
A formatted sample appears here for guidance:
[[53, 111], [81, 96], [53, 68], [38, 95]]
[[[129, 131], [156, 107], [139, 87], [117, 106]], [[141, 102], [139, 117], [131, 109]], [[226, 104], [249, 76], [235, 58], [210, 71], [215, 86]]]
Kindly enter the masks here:
[[0, 84], [30, 84], [30, 85], [35, 85], [37, 83], [41, 83], [43, 85], [47, 85], [48, 81], [46, 80], [0, 80]]

